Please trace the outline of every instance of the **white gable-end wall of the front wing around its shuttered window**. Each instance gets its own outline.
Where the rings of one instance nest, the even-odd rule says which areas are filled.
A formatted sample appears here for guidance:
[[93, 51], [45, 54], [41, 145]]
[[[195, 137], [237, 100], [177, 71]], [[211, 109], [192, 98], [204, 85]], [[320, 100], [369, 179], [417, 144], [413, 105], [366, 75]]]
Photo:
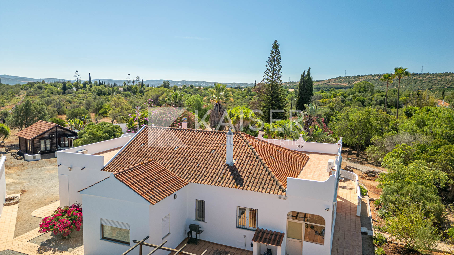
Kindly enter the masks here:
[[[150, 235], [150, 203], [113, 175], [79, 193], [82, 193], [84, 202], [85, 255], [119, 255], [134, 245], [134, 239], [142, 240]], [[128, 223], [131, 245], [102, 240], [101, 218]], [[159, 232], [160, 230], [159, 227]], [[148, 247], [143, 247], [144, 254], [149, 251]], [[138, 249], [129, 254], [138, 255]]]

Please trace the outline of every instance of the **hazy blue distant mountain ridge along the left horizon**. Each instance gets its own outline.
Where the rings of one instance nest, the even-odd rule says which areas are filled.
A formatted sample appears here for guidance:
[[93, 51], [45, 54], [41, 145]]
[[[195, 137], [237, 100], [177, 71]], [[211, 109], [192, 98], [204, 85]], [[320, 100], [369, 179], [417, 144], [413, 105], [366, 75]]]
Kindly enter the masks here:
[[[25, 84], [27, 82], [40, 82], [42, 80], [44, 80], [45, 82], [58, 82], [58, 81], [69, 81], [67, 79], [61, 79], [61, 78], [27, 78], [27, 77], [20, 77], [20, 76], [12, 76], [12, 75], [7, 75], [7, 74], [0, 74], [0, 78], [1, 78], [1, 83], [4, 83], [4, 84], [10, 84], [10, 85], [14, 85], [14, 84]], [[127, 82], [127, 80], [115, 80], [115, 79], [92, 79], [92, 81], [97, 81], [97, 80], [100, 80], [104, 83], [116, 83], [118, 85], [123, 85], [123, 82]], [[133, 80], [133, 78], [131, 78], [131, 81]], [[71, 80], [74, 82], [74, 80]], [[84, 80], [82, 80], [84, 81]], [[164, 79], [158, 79], [158, 80], [144, 80], [143, 83], [145, 84], [150, 84], [150, 85], [155, 85], [155, 86], [158, 86], [160, 84], [162, 84], [164, 81]], [[206, 81], [187, 81], [187, 80], [182, 80], [182, 81], [173, 81], [173, 80], [168, 80], [170, 82], [170, 85], [173, 86], [173, 85], [177, 85], [177, 86], [181, 86], [181, 85], [194, 85], [196, 87], [207, 87], [207, 86], [212, 86], [214, 85], [215, 82], [206, 82]], [[235, 86], [253, 86], [254, 83], [223, 83], [223, 84], [226, 84], [227, 87], [235, 87]]]

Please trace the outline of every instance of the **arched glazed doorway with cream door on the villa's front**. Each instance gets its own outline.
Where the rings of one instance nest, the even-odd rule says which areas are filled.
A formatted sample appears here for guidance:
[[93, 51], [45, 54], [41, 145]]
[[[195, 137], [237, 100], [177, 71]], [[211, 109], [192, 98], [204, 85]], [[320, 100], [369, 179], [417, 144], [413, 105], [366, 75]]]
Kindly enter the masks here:
[[291, 211], [287, 214], [286, 255], [301, 255], [303, 241], [325, 244], [325, 219], [322, 216]]

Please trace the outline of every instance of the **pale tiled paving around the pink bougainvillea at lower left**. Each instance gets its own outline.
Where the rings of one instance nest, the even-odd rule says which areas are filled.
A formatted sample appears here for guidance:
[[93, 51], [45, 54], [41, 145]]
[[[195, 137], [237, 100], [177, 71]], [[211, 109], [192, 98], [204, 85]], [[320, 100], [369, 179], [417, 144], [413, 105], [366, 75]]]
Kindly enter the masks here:
[[[11, 196], [19, 196], [15, 194]], [[56, 201], [50, 205], [43, 206], [32, 212], [32, 216], [44, 218], [45, 216], [52, 215], [52, 212], [60, 205]], [[0, 216], [0, 251], [2, 250], [15, 250], [28, 255], [82, 255], [84, 254], [84, 245], [80, 246], [72, 252], [48, 249], [29, 242], [39, 235], [38, 228], [31, 230], [23, 235], [14, 238], [14, 230], [16, 226], [17, 209], [19, 204], [12, 206], [4, 206]]]

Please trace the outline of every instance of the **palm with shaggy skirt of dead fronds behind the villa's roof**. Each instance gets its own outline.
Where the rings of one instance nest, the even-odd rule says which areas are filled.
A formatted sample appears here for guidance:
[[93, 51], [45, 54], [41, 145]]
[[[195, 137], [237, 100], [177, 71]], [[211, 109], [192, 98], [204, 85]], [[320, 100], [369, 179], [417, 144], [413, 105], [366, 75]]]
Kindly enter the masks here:
[[[230, 97], [230, 92], [226, 89], [227, 85], [214, 83], [214, 88], [210, 88], [210, 103], [213, 104], [213, 109], [210, 113], [210, 127], [217, 127], [224, 114], [224, 106], [227, 100], [233, 99]], [[207, 105], [206, 105], [207, 106]], [[218, 127], [219, 128], [219, 127]]]

